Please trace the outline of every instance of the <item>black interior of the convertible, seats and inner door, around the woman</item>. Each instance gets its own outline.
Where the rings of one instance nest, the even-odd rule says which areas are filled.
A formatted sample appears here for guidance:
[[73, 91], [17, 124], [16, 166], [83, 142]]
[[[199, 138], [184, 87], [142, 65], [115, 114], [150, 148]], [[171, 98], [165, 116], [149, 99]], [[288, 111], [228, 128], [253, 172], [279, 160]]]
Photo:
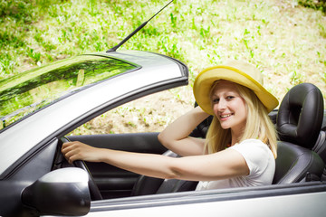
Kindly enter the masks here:
[[[279, 109], [270, 113], [270, 118], [279, 137], [273, 184], [325, 181], [326, 120], [321, 90], [311, 83], [294, 86], [283, 98]], [[210, 121], [211, 117], [203, 121], [191, 136], [205, 137]], [[82, 135], [67, 139], [97, 147], [177, 157], [158, 142], [158, 133]], [[187, 192], [197, 186], [197, 182], [136, 175], [112, 165], [81, 164], [75, 166], [89, 171], [90, 187], [95, 185], [91, 187], [92, 200]], [[65, 166], [71, 165], [59, 165]]]

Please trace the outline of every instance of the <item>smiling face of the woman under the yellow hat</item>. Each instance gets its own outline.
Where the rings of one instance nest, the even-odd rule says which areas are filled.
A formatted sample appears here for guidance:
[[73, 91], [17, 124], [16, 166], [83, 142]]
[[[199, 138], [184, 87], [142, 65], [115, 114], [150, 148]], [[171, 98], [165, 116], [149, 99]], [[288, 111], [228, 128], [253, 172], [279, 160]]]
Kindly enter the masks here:
[[247, 111], [245, 99], [235, 87], [235, 83], [220, 80], [216, 84], [211, 96], [212, 106], [216, 118], [224, 129], [240, 133], [245, 128]]

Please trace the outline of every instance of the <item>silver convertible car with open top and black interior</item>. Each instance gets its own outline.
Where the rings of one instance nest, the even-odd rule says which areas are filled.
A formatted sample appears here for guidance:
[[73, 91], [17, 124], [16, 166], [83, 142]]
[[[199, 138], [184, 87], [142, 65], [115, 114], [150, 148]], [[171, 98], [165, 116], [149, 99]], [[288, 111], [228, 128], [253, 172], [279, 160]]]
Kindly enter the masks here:
[[[80, 55], [0, 80], [0, 216], [326, 215], [326, 118], [321, 91], [310, 83], [293, 87], [270, 113], [279, 133], [271, 185], [196, 192], [196, 182], [62, 157], [67, 140], [177, 157], [158, 132], [66, 135], [126, 102], [187, 83], [184, 63], [136, 51]], [[205, 137], [209, 121], [192, 136]]]

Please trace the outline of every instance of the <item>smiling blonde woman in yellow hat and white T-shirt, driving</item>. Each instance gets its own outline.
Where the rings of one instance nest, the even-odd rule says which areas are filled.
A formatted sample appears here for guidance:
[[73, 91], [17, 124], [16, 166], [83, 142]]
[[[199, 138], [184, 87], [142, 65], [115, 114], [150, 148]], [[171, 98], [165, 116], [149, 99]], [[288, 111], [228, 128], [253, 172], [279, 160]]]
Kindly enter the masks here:
[[[201, 181], [197, 190], [272, 184], [276, 134], [267, 114], [278, 101], [262, 83], [260, 71], [240, 61], [199, 73], [194, 83], [199, 107], [158, 135], [162, 145], [184, 157], [101, 149], [80, 142], [63, 144], [62, 153], [70, 163], [105, 162], [140, 175]], [[206, 139], [188, 137], [209, 115], [214, 118]]]

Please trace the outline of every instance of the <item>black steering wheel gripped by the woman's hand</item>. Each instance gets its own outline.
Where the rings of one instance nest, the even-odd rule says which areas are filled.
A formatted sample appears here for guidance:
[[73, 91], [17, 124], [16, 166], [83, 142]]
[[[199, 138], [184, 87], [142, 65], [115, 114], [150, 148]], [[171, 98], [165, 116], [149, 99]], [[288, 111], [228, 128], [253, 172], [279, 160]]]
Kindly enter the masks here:
[[[62, 137], [60, 139], [62, 141], [62, 144], [63, 143], [66, 143], [66, 142], [70, 142], [70, 140], [67, 138], [67, 137]], [[63, 156], [64, 158], [64, 156]], [[85, 164], [84, 161], [82, 160], [75, 160], [73, 162], [73, 165], [75, 167], [79, 167], [81, 168], [82, 170], [86, 171], [86, 173], [89, 175], [89, 188], [90, 188], [90, 193], [91, 193], [91, 200], [92, 201], [97, 201], [97, 200], [102, 200], [102, 196], [101, 196], [101, 192], [100, 192], [100, 189], [99, 187], [95, 184], [95, 181], [91, 175], [91, 172], [90, 170], [88, 169], [87, 165]]]

